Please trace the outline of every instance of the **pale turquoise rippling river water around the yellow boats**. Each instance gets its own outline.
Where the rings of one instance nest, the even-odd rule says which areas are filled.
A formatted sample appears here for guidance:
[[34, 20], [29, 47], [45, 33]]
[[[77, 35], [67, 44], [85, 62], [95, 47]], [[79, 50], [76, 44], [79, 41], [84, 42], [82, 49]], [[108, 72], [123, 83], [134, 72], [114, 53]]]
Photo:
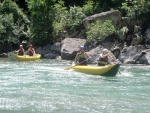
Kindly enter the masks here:
[[68, 61], [0, 59], [0, 113], [150, 112], [150, 66], [122, 65], [115, 77], [66, 67]]

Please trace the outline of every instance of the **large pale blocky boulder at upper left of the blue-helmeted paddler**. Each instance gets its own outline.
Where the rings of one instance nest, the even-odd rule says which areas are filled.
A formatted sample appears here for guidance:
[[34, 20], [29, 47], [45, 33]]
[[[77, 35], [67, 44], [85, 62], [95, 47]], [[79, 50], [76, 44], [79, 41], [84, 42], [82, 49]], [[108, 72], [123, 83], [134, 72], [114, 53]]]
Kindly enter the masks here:
[[61, 58], [67, 60], [73, 60], [75, 58], [76, 53], [79, 50], [79, 47], [81, 45], [84, 46], [85, 44], [86, 44], [85, 39], [65, 38], [62, 41]]

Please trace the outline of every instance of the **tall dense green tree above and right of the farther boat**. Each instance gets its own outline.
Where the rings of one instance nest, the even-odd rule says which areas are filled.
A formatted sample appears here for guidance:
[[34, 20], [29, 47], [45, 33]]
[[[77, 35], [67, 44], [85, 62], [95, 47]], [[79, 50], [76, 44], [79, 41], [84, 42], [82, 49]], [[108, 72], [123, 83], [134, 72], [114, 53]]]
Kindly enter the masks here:
[[31, 42], [36, 45], [52, 43], [54, 0], [26, 0], [31, 12]]

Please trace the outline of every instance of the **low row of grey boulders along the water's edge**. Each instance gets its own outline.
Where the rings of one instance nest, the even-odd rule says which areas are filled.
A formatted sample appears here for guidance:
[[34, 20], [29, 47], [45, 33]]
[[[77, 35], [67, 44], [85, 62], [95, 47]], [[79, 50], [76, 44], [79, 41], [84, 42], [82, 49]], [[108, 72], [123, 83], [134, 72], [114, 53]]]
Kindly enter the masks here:
[[[42, 58], [45, 59], [61, 58], [64, 60], [74, 60], [80, 45], [84, 45], [87, 53], [92, 57], [92, 59], [88, 60], [89, 63], [96, 63], [103, 48], [110, 47], [109, 43], [104, 43], [89, 48], [85, 39], [65, 38], [61, 43], [37, 48], [36, 53], [42, 54]], [[150, 49], [146, 49], [143, 45], [124, 46], [123, 48], [111, 46], [111, 48], [107, 49], [109, 49], [111, 60], [115, 63], [150, 64]]]

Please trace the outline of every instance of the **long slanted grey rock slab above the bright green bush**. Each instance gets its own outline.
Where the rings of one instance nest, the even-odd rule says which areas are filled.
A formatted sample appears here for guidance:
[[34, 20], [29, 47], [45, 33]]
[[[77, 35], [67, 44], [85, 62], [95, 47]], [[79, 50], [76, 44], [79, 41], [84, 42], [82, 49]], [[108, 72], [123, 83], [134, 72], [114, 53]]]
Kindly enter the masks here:
[[102, 12], [99, 14], [95, 14], [95, 15], [86, 17], [85, 19], [83, 19], [83, 24], [86, 29], [88, 29], [88, 26], [90, 23], [92, 23], [96, 20], [101, 20], [102, 22], [104, 22], [105, 20], [112, 20], [112, 22], [115, 25], [119, 25], [121, 22], [121, 19], [122, 19], [121, 12], [118, 10], [114, 10], [114, 11]]

